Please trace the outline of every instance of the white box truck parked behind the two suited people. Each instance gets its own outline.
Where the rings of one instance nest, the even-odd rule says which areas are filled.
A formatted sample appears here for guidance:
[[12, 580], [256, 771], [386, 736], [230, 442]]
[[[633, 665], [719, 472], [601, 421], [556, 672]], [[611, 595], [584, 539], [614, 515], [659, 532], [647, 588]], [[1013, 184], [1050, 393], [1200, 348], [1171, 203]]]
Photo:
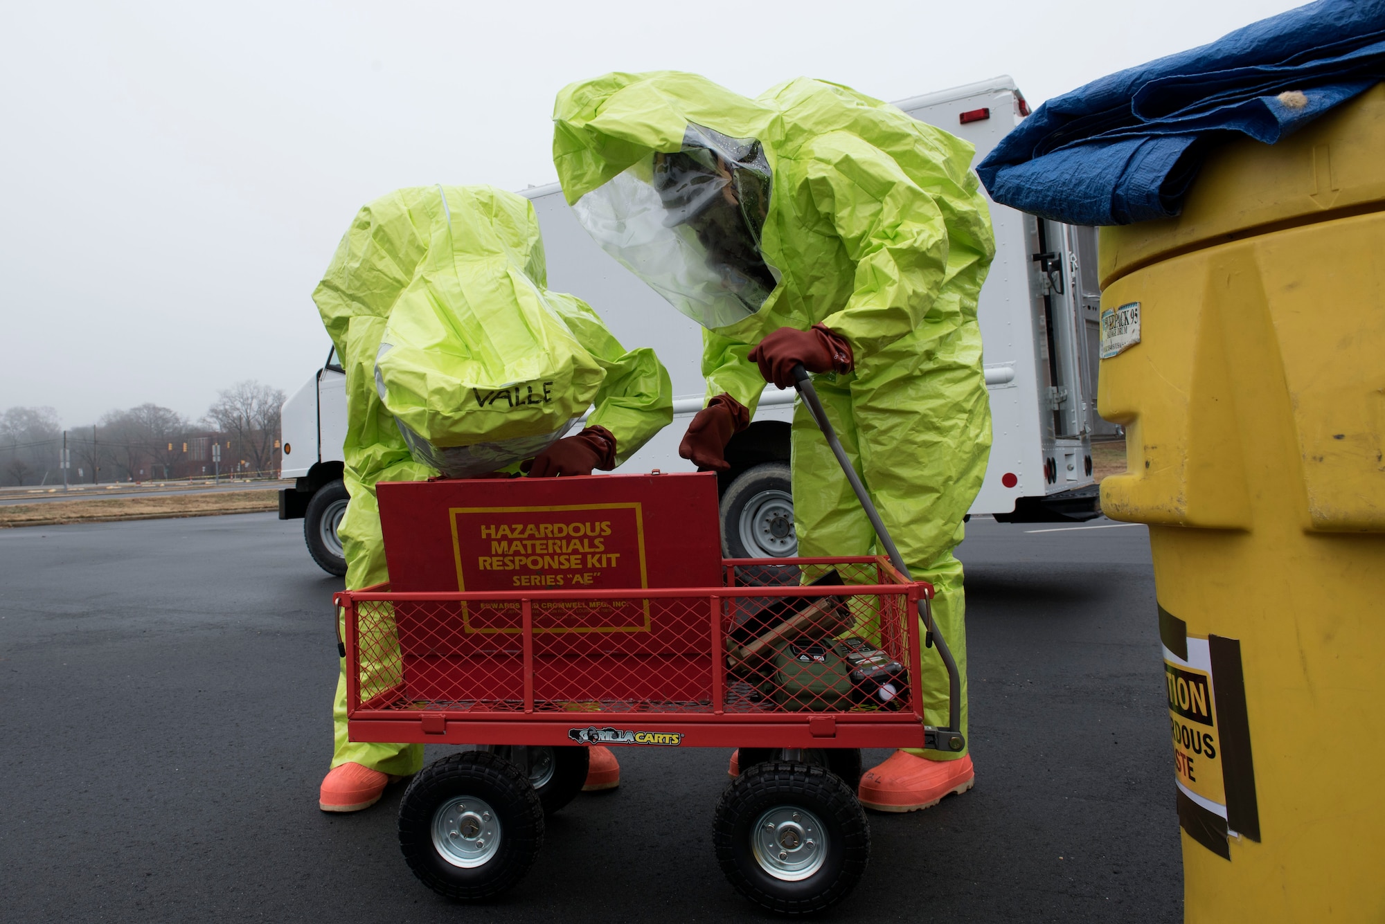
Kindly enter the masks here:
[[[921, 122], [976, 145], [983, 158], [1029, 113], [1008, 76], [896, 102]], [[654, 347], [673, 379], [674, 419], [625, 466], [629, 472], [691, 469], [677, 445], [702, 407], [701, 328], [611, 259], [578, 224], [557, 184], [524, 191], [539, 216], [548, 285], [597, 310], [626, 347]], [[972, 515], [1001, 521], [1086, 520], [1100, 512], [1091, 479], [1091, 436], [1112, 432], [1097, 416], [1096, 230], [1036, 219], [990, 203], [996, 261], [981, 290], [986, 387], [994, 422], [990, 466]], [[767, 387], [751, 426], [727, 447], [719, 476], [727, 555], [794, 555], [789, 488], [792, 390]], [[305, 517], [313, 559], [345, 574], [337, 523], [346, 434], [345, 375], [335, 355], [284, 404], [280, 517]]]

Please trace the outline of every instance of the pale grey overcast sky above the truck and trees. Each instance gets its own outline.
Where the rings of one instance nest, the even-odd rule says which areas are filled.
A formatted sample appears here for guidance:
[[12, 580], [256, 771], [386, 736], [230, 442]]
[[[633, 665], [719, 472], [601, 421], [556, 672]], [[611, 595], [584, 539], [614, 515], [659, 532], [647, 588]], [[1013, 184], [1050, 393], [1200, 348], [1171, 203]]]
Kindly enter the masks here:
[[[389, 190], [553, 183], [553, 98], [608, 71], [884, 100], [1010, 73], [1037, 105], [1288, 10], [1012, 3], [0, 3], [0, 409], [66, 426], [292, 393], [310, 293]], [[633, 346], [633, 344], [627, 344]]]

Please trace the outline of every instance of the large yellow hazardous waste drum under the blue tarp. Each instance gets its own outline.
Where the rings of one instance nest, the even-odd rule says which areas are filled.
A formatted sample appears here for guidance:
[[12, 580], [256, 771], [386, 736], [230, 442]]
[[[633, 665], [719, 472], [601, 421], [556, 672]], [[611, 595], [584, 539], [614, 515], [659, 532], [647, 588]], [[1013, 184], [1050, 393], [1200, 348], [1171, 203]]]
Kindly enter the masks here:
[[1385, 920], [1385, 84], [1101, 234], [1186, 920]]

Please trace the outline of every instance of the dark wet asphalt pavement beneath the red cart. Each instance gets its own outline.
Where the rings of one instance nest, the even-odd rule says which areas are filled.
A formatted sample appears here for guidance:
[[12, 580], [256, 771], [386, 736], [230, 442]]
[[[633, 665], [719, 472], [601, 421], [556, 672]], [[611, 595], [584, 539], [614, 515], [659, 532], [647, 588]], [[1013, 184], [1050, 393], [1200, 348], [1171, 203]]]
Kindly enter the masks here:
[[[976, 786], [871, 815], [870, 869], [821, 920], [1181, 920], [1148, 538], [1093, 526], [970, 524]], [[771, 920], [712, 853], [727, 750], [618, 751], [620, 788], [553, 816], [476, 907], [404, 866], [400, 786], [319, 812], [339, 586], [267, 513], [0, 531], [0, 916]]]

